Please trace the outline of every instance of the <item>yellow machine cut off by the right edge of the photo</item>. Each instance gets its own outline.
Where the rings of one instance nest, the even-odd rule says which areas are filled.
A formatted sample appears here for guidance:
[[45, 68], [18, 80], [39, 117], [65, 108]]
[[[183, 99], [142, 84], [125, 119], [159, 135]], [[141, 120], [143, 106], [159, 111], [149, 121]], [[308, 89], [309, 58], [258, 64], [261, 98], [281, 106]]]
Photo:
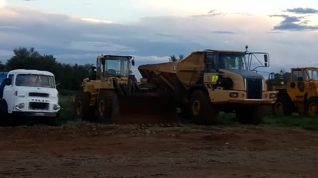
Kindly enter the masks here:
[[273, 87], [272, 90], [279, 91], [274, 113], [289, 116], [296, 112], [317, 116], [318, 68], [292, 68], [289, 83], [286, 86], [281, 83], [281, 86]]

